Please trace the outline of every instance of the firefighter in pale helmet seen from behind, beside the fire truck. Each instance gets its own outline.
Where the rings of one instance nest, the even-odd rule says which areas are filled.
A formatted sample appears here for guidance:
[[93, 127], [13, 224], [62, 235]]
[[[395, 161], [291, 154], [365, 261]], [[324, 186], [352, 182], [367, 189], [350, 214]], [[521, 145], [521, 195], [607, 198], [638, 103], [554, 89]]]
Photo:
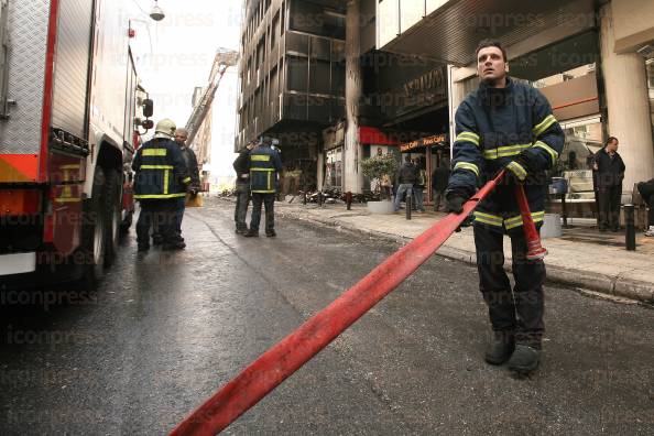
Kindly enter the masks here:
[[156, 123], [154, 138], [135, 153], [132, 170], [134, 198], [141, 204], [137, 222], [139, 251], [150, 249], [150, 227], [154, 226], [163, 240], [163, 250], [179, 250], [186, 244], [175, 237], [177, 200], [186, 196], [190, 177], [179, 146], [173, 142], [175, 123], [163, 119]]

